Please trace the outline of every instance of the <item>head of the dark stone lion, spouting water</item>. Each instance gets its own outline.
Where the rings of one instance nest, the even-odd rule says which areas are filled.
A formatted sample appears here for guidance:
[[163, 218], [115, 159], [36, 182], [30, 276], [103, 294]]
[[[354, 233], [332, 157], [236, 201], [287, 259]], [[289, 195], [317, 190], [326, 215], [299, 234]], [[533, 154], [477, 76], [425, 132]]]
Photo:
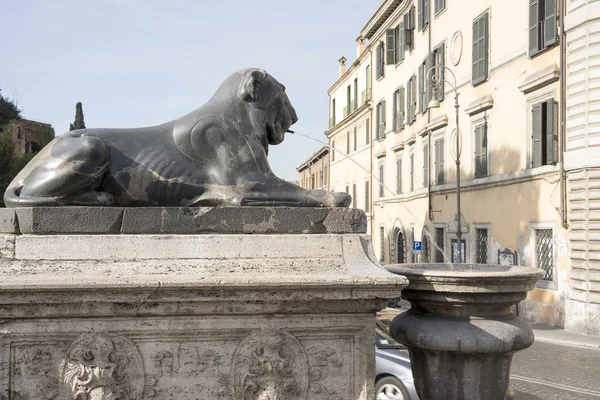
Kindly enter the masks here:
[[265, 128], [269, 144], [279, 144], [285, 132], [298, 121], [296, 110], [285, 93], [285, 86], [263, 69], [247, 69], [243, 75], [238, 96], [264, 110]]

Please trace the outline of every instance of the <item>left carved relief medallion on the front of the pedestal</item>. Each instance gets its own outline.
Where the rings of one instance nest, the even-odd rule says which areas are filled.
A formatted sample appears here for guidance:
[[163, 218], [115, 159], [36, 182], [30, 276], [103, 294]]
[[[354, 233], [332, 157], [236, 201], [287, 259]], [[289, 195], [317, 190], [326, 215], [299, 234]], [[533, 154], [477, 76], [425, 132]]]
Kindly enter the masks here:
[[144, 369], [123, 336], [83, 334], [67, 349], [60, 371], [63, 400], [142, 400]]

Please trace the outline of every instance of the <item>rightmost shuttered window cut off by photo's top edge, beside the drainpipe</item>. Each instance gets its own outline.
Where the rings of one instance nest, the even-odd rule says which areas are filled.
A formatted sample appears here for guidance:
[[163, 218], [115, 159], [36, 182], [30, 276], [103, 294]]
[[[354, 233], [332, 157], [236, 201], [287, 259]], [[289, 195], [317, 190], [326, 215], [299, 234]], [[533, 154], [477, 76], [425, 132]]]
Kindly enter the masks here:
[[556, 0], [529, 0], [529, 57], [552, 47], [557, 40]]

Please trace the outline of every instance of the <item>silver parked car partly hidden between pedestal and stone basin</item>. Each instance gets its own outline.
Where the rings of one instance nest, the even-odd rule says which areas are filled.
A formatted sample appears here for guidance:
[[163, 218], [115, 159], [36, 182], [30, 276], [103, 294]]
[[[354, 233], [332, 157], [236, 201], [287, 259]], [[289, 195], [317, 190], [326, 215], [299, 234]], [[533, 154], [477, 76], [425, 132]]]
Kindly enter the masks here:
[[391, 337], [386, 324], [379, 320], [375, 328], [375, 399], [419, 399], [408, 349]]

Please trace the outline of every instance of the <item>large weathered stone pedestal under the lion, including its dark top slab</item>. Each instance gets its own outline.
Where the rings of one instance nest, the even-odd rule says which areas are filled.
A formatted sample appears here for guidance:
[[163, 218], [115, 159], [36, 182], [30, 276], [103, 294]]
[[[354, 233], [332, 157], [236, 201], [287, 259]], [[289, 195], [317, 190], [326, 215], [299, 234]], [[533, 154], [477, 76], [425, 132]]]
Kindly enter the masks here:
[[361, 211], [0, 211], [0, 399], [372, 400]]

